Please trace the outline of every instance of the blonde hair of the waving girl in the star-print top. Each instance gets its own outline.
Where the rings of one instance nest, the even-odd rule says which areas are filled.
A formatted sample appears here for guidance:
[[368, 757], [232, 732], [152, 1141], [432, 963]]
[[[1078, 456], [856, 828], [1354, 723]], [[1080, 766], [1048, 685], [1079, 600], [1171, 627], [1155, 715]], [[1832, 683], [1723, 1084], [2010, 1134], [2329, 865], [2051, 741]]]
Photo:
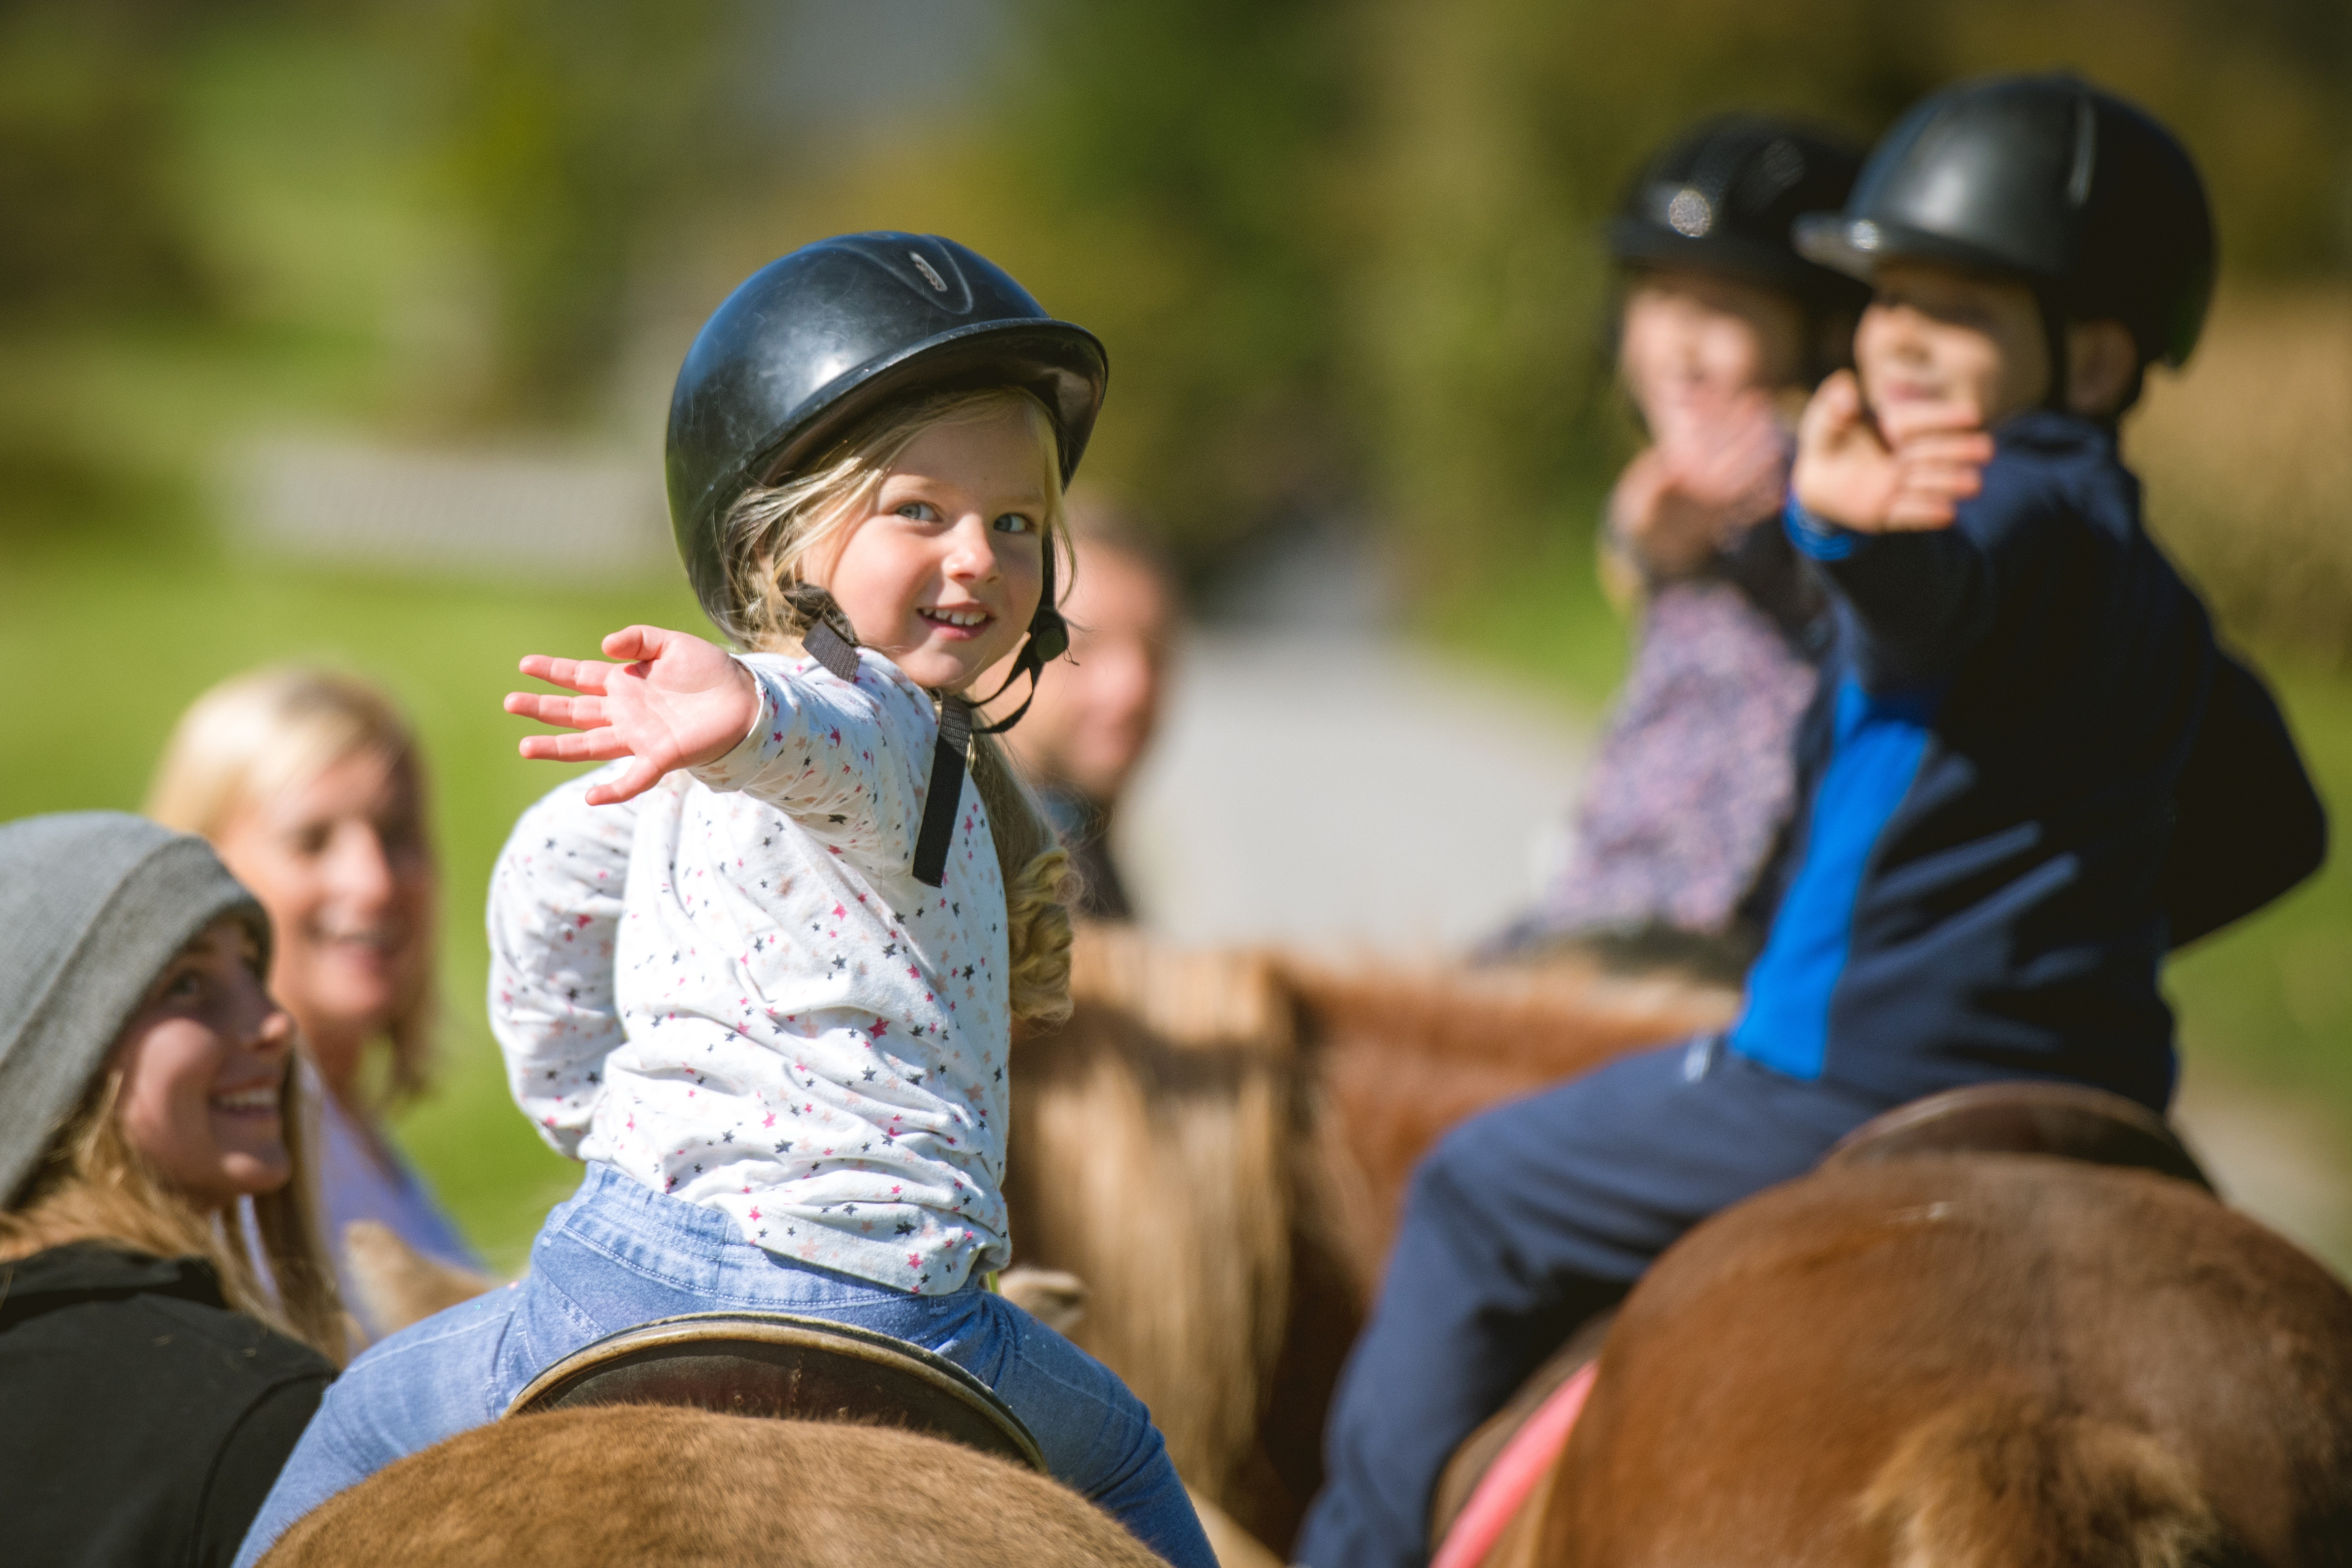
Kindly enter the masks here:
[[[884, 409], [835, 442], [823, 456], [743, 491], [720, 524], [727, 602], [710, 618], [739, 646], [800, 654], [800, 635], [821, 595], [811, 595], [809, 564], [837, 552], [868, 501], [924, 430], [1018, 411], [1037, 437], [1044, 482], [1047, 550], [1068, 559], [1070, 522], [1061, 494], [1061, 454], [1044, 404], [1021, 388], [931, 393]], [[1004, 875], [1004, 947], [1011, 1016], [1058, 1023], [1070, 1016], [1070, 900], [1077, 896], [1070, 856], [1047, 823], [1011, 757], [995, 736], [971, 738], [971, 788], [988, 811], [997, 867]]]

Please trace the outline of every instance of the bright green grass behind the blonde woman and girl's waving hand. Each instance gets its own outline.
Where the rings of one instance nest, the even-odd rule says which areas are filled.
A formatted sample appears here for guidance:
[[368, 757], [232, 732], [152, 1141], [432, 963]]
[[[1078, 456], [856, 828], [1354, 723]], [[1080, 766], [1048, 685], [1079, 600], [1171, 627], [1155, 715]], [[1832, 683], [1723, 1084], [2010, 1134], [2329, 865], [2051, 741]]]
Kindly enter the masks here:
[[397, 1138], [466, 1234], [513, 1267], [576, 1168], [515, 1114], [482, 1023], [489, 865], [522, 806], [562, 778], [515, 757], [527, 726], [499, 698], [520, 654], [586, 654], [628, 621], [701, 616], [668, 574], [642, 590], [539, 592], [216, 557], [0, 562], [0, 818], [134, 811], [188, 701], [256, 663], [327, 661], [388, 686], [433, 771], [447, 1018], [440, 1088]]

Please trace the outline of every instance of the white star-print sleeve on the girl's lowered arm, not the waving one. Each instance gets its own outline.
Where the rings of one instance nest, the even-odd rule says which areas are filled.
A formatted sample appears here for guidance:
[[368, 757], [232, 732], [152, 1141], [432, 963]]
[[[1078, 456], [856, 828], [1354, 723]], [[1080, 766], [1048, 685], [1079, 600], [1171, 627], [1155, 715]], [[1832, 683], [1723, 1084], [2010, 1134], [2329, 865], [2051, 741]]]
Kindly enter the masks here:
[[489, 1030], [515, 1105], [579, 1159], [604, 1058], [623, 1041], [614, 945], [637, 804], [590, 806], [628, 762], [553, 790], [522, 813], [489, 877]]

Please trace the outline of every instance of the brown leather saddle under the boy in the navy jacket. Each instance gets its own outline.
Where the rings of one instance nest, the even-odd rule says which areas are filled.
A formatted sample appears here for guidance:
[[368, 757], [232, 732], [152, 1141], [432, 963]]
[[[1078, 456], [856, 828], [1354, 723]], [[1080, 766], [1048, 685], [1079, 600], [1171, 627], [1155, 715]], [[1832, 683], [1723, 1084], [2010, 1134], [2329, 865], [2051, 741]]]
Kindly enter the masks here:
[[2084, 1084], [1969, 1084], [1872, 1117], [1837, 1140], [1823, 1171], [1912, 1154], [2058, 1154], [2096, 1166], [2159, 1171], [2213, 1192], [2213, 1180], [2164, 1117]]

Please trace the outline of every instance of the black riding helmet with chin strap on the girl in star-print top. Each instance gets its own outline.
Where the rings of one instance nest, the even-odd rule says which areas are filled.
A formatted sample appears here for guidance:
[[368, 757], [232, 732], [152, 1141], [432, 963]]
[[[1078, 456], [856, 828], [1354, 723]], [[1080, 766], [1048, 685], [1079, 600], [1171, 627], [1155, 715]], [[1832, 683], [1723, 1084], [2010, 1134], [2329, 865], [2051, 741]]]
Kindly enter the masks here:
[[[727, 625], [720, 529], [734, 503], [823, 456], [887, 402], [955, 388], [1025, 388], [1054, 421], [1068, 484], [1108, 376], [1108, 355], [1091, 331], [1047, 315], [1000, 266], [955, 240], [837, 235], [769, 261], [703, 322], [670, 393], [670, 529], [694, 595]], [[842, 679], [856, 677], [856, 651], [826, 614], [811, 616], [804, 646]], [[1014, 658], [1014, 679], [1025, 672], [1035, 693], [1040, 668], [1068, 646], [1047, 541], [1044, 595]], [[971, 724], [962, 696], [941, 696], [938, 708], [913, 867], [931, 886], [943, 877], [969, 736], [1011, 726], [1028, 703], [995, 726]]]

